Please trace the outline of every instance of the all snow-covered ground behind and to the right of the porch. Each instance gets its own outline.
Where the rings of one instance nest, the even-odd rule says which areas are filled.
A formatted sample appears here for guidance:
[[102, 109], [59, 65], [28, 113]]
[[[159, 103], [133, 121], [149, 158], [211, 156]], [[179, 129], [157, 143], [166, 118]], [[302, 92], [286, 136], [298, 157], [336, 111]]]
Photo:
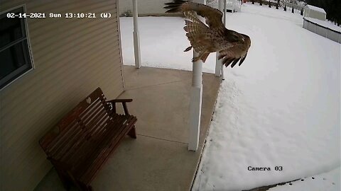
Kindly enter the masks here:
[[[120, 22], [124, 64], [133, 65], [132, 18]], [[139, 18], [142, 65], [191, 70], [183, 26]], [[340, 190], [340, 44], [302, 26], [299, 14], [267, 6], [227, 14], [227, 28], [249, 35], [251, 47], [242, 66], [224, 69], [193, 190], [248, 190], [333, 169], [339, 178], [323, 190]], [[215, 54], [204, 71], [214, 73]]]

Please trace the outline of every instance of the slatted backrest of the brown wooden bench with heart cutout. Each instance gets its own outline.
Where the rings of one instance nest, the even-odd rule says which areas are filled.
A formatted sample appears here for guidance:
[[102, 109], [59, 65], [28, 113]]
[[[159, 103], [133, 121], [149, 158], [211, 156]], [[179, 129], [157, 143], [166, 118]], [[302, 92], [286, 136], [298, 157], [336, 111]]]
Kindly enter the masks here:
[[[79, 148], [82, 139], [95, 139], [96, 132], [102, 131], [109, 120], [109, 105], [100, 88], [82, 100], [58, 123], [58, 133], [50, 133], [40, 139], [40, 146], [48, 156], [67, 157]], [[58, 137], [58, 139], [55, 139]]]

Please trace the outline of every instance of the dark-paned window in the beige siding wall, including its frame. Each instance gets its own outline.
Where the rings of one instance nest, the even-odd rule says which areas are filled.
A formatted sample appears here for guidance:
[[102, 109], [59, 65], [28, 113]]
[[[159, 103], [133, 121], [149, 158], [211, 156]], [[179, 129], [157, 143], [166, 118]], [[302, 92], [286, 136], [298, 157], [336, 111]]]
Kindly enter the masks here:
[[23, 6], [0, 13], [0, 90], [33, 69], [23, 13]]

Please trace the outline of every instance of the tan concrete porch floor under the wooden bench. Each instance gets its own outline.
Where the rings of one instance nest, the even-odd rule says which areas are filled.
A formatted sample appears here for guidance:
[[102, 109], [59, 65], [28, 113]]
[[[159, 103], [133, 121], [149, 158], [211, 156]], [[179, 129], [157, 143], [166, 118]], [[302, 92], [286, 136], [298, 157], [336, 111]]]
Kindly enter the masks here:
[[[124, 66], [124, 81], [126, 91], [119, 98], [134, 99], [128, 108], [138, 118], [137, 139], [124, 139], [99, 170], [92, 187], [101, 191], [190, 190], [220, 78], [202, 75], [200, 146], [196, 152], [188, 151], [191, 71]], [[64, 188], [55, 170], [50, 170], [35, 190]]]

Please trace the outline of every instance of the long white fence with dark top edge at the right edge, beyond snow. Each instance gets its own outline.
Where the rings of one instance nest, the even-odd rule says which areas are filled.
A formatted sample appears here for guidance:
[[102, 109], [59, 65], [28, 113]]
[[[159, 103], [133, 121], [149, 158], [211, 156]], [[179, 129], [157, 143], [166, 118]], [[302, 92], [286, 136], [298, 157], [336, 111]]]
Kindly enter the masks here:
[[320, 25], [317, 22], [311, 21], [309, 18], [303, 18], [303, 28], [318, 35], [327, 37], [332, 41], [341, 43], [340, 31]]

